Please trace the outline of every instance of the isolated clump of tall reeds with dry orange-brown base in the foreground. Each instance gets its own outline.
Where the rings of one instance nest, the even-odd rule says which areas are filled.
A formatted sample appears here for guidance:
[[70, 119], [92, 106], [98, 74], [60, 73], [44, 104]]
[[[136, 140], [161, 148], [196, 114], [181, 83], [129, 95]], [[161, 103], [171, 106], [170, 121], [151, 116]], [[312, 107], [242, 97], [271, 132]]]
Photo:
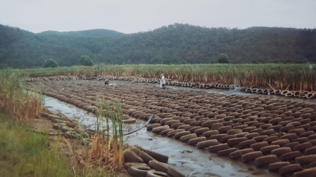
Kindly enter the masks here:
[[[96, 133], [89, 141], [80, 137], [85, 148], [74, 152], [76, 157], [89, 168], [99, 167], [106, 171], [115, 172], [123, 166], [123, 111], [119, 101], [97, 100], [96, 110]], [[71, 149], [71, 147], [70, 147]]]

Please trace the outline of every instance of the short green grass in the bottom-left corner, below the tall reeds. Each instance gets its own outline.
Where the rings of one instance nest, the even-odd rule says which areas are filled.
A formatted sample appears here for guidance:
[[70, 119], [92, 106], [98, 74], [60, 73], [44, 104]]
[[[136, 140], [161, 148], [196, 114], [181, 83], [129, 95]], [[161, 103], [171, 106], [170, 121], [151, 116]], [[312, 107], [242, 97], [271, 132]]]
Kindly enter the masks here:
[[48, 136], [35, 134], [25, 123], [16, 123], [0, 113], [0, 174], [2, 176], [73, 176], [71, 165], [58, 152], [58, 144], [48, 147]]

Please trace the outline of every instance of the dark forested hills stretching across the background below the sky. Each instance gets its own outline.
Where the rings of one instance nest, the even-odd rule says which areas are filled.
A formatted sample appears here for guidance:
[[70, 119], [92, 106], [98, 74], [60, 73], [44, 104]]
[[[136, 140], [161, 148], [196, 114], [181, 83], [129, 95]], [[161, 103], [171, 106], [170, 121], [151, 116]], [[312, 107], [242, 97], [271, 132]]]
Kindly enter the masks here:
[[32, 33], [0, 25], [0, 68], [40, 67], [46, 59], [79, 65], [81, 55], [106, 64], [214, 63], [220, 53], [230, 63], [315, 63], [316, 29], [173, 24], [133, 34], [103, 29]]

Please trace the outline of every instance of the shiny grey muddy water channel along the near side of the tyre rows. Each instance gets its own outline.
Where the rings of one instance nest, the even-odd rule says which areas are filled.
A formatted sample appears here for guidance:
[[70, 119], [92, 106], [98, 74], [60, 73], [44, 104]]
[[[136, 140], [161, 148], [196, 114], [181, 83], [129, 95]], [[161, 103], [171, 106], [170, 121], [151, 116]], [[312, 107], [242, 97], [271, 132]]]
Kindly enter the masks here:
[[[113, 82], [112, 82], [113, 83]], [[116, 83], [113, 83], [116, 84]], [[87, 112], [74, 105], [59, 101], [52, 97], [44, 96], [45, 106], [51, 111], [60, 111], [69, 118], [76, 119], [83, 125], [94, 128], [96, 117], [93, 113]], [[134, 124], [125, 124], [124, 133], [136, 129], [146, 123], [138, 120]], [[253, 164], [246, 164], [239, 161], [233, 161], [228, 157], [218, 157], [216, 153], [210, 153], [206, 149], [200, 150], [187, 143], [183, 143], [174, 138], [157, 135], [143, 128], [135, 133], [124, 137], [125, 143], [133, 146], [138, 144], [146, 149], [165, 154], [169, 156], [168, 163], [173, 168], [182, 172], [188, 177], [200, 176], [258, 176], [274, 177], [277, 173], [271, 173], [267, 169], [257, 168]]]

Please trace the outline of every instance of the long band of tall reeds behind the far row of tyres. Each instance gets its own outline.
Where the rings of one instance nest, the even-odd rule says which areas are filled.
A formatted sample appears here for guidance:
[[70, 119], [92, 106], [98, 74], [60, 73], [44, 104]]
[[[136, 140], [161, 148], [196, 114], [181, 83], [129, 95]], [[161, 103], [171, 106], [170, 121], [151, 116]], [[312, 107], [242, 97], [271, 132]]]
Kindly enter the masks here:
[[113, 75], [158, 77], [201, 83], [240, 84], [277, 89], [316, 90], [316, 64], [186, 64], [186, 65], [95, 65], [21, 70], [30, 76]]

